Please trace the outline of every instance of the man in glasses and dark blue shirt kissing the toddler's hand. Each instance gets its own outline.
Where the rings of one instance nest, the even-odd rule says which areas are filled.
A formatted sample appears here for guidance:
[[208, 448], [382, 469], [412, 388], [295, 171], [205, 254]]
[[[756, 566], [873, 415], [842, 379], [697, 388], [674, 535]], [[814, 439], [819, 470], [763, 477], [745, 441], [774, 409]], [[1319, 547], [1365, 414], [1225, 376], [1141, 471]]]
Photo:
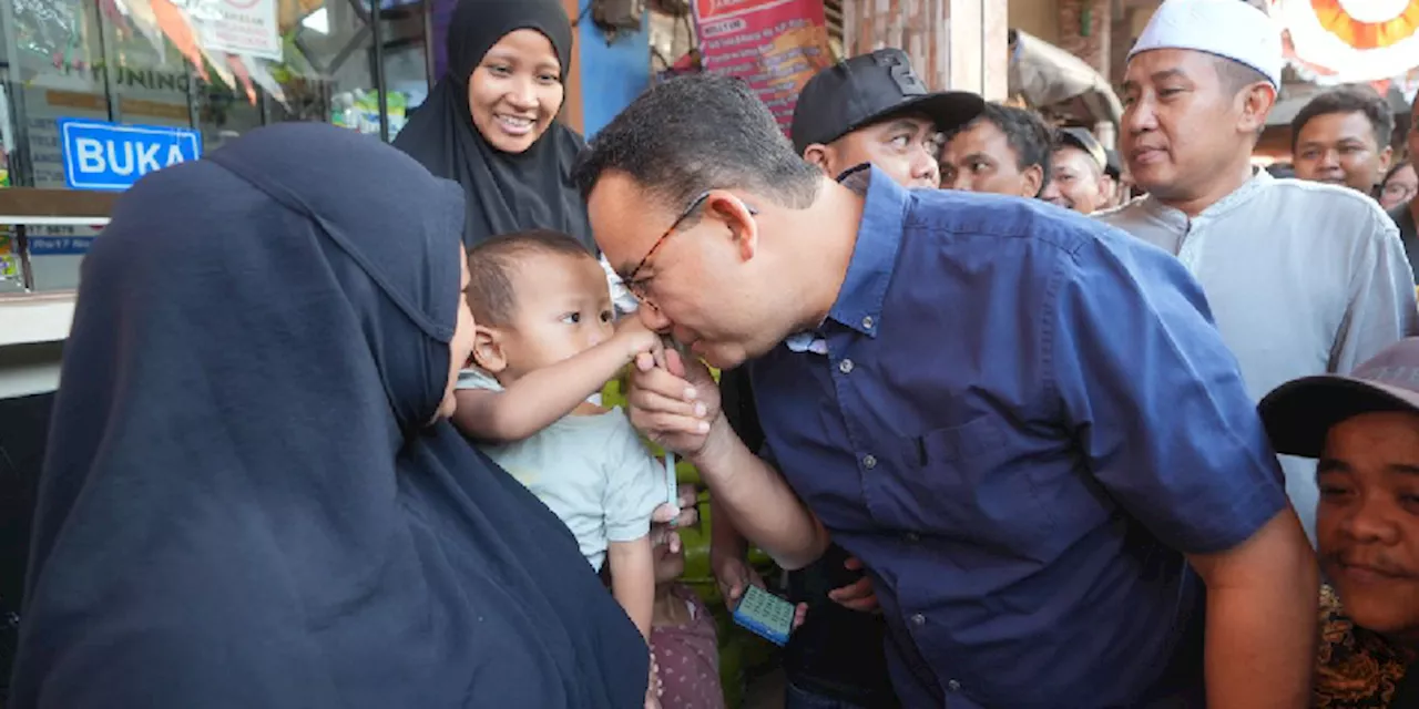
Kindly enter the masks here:
[[641, 95], [575, 177], [647, 325], [753, 359], [763, 458], [674, 353], [637, 362], [633, 421], [785, 567], [829, 530], [867, 564], [904, 706], [1305, 706], [1314, 557], [1176, 259], [1037, 201], [837, 184], [719, 77]]

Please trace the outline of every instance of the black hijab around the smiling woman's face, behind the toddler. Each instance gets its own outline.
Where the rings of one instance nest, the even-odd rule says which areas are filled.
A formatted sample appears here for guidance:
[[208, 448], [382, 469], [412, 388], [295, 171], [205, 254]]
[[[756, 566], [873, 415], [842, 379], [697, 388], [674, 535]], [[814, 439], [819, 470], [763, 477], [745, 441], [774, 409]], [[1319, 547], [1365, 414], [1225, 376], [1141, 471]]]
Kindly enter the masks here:
[[399, 132], [394, 147], [463, 186], [468, 196], [465, 245], [519, 230], [552, 228], [597, 252], [586, 203], [570, 179], [572, 162], [586, 145], [582, 136], [553, 121], [532, 147], [512, 155], [488, 145], [473, 125], [468, 77], [488, 50], [515, 30], [545, 34], [562, 62], [562, 77], [568, 75], [572, 26], [561, 0], [461, 0], [448, 27], [448, 72]]

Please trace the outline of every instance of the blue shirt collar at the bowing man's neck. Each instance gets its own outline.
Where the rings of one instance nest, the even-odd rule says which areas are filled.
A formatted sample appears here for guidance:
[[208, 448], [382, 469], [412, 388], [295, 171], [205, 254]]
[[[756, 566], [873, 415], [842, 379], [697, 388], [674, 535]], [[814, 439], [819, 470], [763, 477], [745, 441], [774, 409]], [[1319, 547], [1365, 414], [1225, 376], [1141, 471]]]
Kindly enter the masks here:
[[897, 267], [910, 193], [877, 167], [871, 167], [866, 190], [853, 258], [827, 316], [876, 337], [881, 328], [883, 299]]

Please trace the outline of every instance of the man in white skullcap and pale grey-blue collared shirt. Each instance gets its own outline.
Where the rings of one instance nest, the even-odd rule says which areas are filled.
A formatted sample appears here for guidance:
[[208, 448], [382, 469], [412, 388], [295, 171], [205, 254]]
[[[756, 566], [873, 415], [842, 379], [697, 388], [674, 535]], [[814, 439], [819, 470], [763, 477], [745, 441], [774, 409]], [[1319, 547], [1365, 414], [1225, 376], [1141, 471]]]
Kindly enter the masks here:
[[[1257, 400], [1291, 379], [1348, 373], [1419, 332], [1409, 262], [1375, 200], [1252, 167], [1281, 65], [1264, 11], [1166, 0], [1124, 77], [1122, 153], [1148, 196], [1098, 216], [1192, 271]], [[1314, 540], [1315, 465], [1281, 467]]]

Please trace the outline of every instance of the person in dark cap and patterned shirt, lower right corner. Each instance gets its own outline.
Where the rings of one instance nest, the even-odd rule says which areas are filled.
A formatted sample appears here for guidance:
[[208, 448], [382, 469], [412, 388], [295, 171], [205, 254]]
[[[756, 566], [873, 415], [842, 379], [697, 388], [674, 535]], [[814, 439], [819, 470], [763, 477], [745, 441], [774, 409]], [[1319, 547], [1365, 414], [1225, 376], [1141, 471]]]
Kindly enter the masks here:
[[1320, 459], [1313, 706], [1419, 706], [1419, 337], [1281, 384], [1260, 410], [1277, 452]]

